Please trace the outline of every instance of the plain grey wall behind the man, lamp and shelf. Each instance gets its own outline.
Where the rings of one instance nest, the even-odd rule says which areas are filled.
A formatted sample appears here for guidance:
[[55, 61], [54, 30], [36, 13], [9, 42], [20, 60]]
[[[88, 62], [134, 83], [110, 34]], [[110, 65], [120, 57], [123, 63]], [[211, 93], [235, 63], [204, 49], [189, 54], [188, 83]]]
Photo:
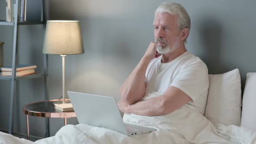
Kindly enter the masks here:
[[[210, 74], [240, 69], [255, 72], [256, 16], [254, 0], [175, 0], [190, 14], [187, 50], [207, 64]], [[108, 95], [119, 100], [119, 88], [154, 40], [154, 10], [163, 0], [49, 0], [49, 20], [80, 20], [85, 54], [66, 56], [66, 90]], [[43, 26], [20, 26], [19, 61], [43, 71]], [[11, 26], [0, 26], [4, 64], [11, 64]], [[49, 96], [62, 95], [61, 57], [49, 55]], [[22, 107], [44, 99], [43, 80], [17, 82], [14, 131], [26, 133]], [[10, 82], [0, 81], [0, 129], [8, 129]], [[50, 119], [51, 135], [64, 121]], [[77, 124], [70, 118], [69, 124]], [[31, 134], [44, 135], [44, 118], [30, 117]]]

